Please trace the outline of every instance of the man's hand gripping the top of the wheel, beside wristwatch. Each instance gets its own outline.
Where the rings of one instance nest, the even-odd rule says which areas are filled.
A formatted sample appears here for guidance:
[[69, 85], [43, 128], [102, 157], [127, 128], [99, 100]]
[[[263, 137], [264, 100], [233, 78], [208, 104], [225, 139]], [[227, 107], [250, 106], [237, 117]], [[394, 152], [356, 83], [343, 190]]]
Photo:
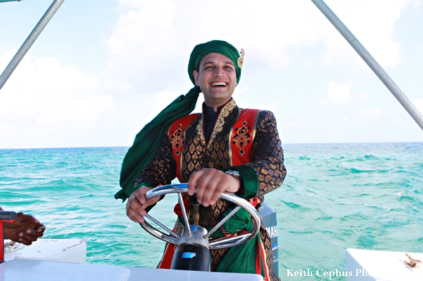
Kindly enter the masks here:
[[197, 202], [207, 207], [214, 205], [223, 192], [238, 192], [240, 179], [221, 170], [202, 168], [192, 173], [188, 179], [188, 194], [194, 195], [195, 189], [197, 189]]

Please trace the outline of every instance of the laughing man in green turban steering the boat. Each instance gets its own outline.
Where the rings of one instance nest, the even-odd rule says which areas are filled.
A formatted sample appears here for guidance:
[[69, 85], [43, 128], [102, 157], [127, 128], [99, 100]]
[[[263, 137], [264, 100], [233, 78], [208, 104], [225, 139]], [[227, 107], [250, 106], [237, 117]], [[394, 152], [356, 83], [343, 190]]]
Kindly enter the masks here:
[[[197, 190], [197, 202], [189, 205], [201, 206], [188, 212], [190, 223], [203, 227], [216, 225], [231, 208], [219, 199], [221, 193], [256, 198], [251, 202], [258, 208], [264, 194], [282, 184], [286, 169], [273, 113], [241, 110], [231, 97], [240, 80], [243, 58], [244, 52], [240, 56], [227, 42], [214, 40], [195, 46], [188, 65], [195, 87], [145, 126], [123, 161], [123, 190], [115, 197], [129, 197], [126, 213], [131, 220], [142, 223], [146, 208], [159, 200], [146, 202], [145, 193], [170, 184], [175, 177], [188, 182], [190, 196]], [[188, 115], [200, 92], [204, 95], [202, 114]], [[197, 219], [192, 216], [195, 212]], [[175, 229], [180, 228], [178, 220]], [[261, 273], [266, 280], [279, 280], [273, 271], [270, 239], [264, 227], [258, 236], [257, 242], [265, 250], [259, 260], [255, 256], [259, 246], [254, 242], [238, 249], [211, 250], [212, 271]], [[159, 268], [168, 268], [169, 248], [171, 245], [166, 246]], [[250, 254], [245, 254], [247, 250]], [[256, 261], [261, 261], [258, 272]]]

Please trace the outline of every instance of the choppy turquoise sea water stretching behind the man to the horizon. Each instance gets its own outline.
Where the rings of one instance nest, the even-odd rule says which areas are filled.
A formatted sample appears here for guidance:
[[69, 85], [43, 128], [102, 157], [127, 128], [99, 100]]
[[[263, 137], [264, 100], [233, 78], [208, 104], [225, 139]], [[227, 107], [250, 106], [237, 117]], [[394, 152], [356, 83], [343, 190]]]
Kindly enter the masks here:
[[[278, 213], [283, 279], [287, 268], [345, 270], [347, 248], [423, 252], [423, 143], [283, 148], [288, 177], [266, 196]], [[44, 237], [86, 239], [87, 263], [154, 268], [164, 242], [113, 197], [127, 149], [0, 150], [0, 206], [32, 213]], [[176, 200], [166, 196], [153, 216], [171, 226]]]

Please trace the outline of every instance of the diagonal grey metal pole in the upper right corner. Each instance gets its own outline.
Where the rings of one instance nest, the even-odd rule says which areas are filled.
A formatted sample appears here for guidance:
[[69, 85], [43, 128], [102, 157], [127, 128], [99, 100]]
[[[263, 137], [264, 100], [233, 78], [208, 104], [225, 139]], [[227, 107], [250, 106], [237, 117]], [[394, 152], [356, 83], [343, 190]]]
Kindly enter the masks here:
[[331, 8], [327, 6], [322, 0], [312, 0], [314, 5], [319, 8], [326, 18], [332, 23], [334, 27], [341, 33], [341, 35], [350, 43], [350, 45], [357, 51], [362, 59], [372, 68], [374, 74], [384, 83], [384, 85], [391, 91], [393, 96], [400, 102], [410, 116], [416, 121], [417, 125], [423, 130], [423, 115], [412, 102], [405, 96], [401, 89], [393, 82], [391, 77], [385, 72], [384, 68], [377, 63], [372, 55], [364, 48], [364, 46], [355, 38], [353, 33], [341, 22], [341, 20], [333, 13]]

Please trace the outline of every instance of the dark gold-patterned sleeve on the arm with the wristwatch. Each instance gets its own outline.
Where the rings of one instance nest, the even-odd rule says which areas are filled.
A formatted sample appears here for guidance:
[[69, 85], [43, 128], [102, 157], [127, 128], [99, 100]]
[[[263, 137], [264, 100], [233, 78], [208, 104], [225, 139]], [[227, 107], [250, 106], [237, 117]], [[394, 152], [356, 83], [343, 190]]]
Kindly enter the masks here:
[[279, 139], [276, 118], [271, 111], [260, 111], [256, 134], [252, 144], [251, 163], [245, 164], [256, 170], [259, 178], [257, 197], [280, 187], [286, 176], [283, 165], [283, 149]]

